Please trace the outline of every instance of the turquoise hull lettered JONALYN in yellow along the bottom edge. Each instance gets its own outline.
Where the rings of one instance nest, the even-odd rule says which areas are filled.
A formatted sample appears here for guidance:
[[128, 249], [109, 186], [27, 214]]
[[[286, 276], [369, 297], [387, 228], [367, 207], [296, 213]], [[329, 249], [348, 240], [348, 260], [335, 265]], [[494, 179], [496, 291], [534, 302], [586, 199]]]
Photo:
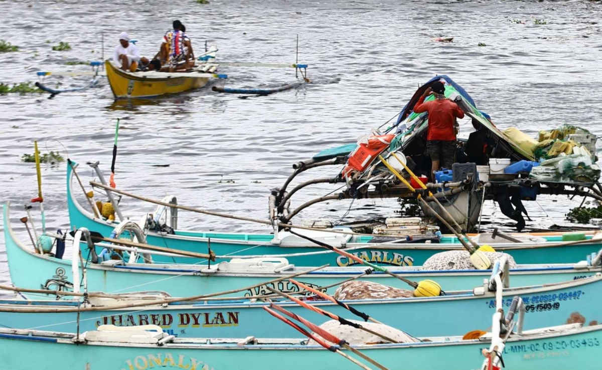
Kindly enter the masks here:
[[[266, 317], [265, 322], [284, 325], [270, 317]], [[158, 346], [96, 341], [76, 344], [72, 338], [75, 334], [1, 328], [0, 346], [4, 353], [11, 354], [3, 359], [4, 366], [11, 370], [146, 370], [155, 367], [282, 370], [282, 364], [286, 363], [288, 370], [355, 368], [349, 360], [324, 348], [299, 344], [300, 339], [290, 339], [285, 344], [260, 340], [260, 344], [247, 345], [237, 345], [240, 339], [176, 339]], [[598, 370], [601, 342], [601, 325], [542, 329], [510, 337], [503, 359], [506, 368], [513, 370]], [[415, 344], [354, 347], [389, 369], [466, 370], [480, 368], [483, 363], [481, 350], [489, 345], [487, 339], [461, 341], [455, 337], [433, 338], [433, 341]]]

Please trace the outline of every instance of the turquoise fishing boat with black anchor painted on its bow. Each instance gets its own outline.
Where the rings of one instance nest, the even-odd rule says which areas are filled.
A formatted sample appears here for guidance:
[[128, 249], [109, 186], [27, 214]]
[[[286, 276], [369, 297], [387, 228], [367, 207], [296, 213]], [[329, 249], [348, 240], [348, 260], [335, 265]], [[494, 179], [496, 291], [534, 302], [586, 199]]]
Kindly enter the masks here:
[[[58, 259], [51, 254], [36, 253], [33, 247], [26, 247], [14, 234], [10, 223], [9, 206], [4, 206], [5, 241], [8, 256], [8, 266], [11, 281], [20, 288], [60, 290], [75, 289], [80, 291], [81, 282], [79, 255], [74, 254], [71, 261]], [[82, 229], [80, 229], [82, 230]], [[112, 232], [111, 232], [112, 233]], [[104, 248], [121, 248], [118, 245], [98, 243], [95, 245], [98, 254]], [[72, 248], [77, 253], [77, 248]], [[110, 259], [99, 263], [92, 263], [90, 248], [82, 247], [82, 256], [85, 262], [87, 287], [90, 291], [107, 292], [110, 294], [135, 292], [140, 290], [164, 291], [173, 297], [188, 297], [191, 295], [214, 294], [217, 292], [235, 290], [243, 286], [255, 286], [245, 292], [231, 294], [238, 296], [261, 295], [267, 292], [263, 284], [266, 280], [279, 280], [275, 289], [283, 292], [299, 292], [301, 289], [290, 282], [288, 276], [299, 276], [302, 283], [324, 289], [333, 293], [332, 287], [342, 280], [358, 277], [365, 273], [365, 267], [296, 267], [287, 259], [264, 257], [258, 259], [232, 259], [219, 264], [158, 264], [135, 263], [123, 260]], [[159, 253], [139, 251], [144, 253]], [[323, 252], [320, 252], [323, 253]], [[132, 253], [133, 254], [133, 253]], [[153, 256], [157, 256], [153, 254]], [[584, 256], [585, 257], [585, 256]], [[73, 263], [75, 261], [75, 263]], [[100, 261], [100, 259], [99, 259]], [[155, 261], [153, 261], [155, 262]], [[27, 268], [23, 268], [26, 266]], [[435, 280], [444, 291], [473, 289], [482, 285], [483, 279], [488, 279], [491, 270], [444, 270], [425, 271], [420, 267], [389, 268], [407, 279]], [[578, 264], [539, 264], [518, 265], [512, 270], [514, 286], [541, 285], [553, 282], [579, 280], [594, 276], [600, 270], [586, 261]], [[388, 274], [378, 271], [368, 274], [362, 279], [408, 289], [408, 285]], [[79, 282], [74, 284], [73, 282]], [[31, 297], [36, 299], [39, 294]], [[57, 298], [54, 294], [46, 298]]]

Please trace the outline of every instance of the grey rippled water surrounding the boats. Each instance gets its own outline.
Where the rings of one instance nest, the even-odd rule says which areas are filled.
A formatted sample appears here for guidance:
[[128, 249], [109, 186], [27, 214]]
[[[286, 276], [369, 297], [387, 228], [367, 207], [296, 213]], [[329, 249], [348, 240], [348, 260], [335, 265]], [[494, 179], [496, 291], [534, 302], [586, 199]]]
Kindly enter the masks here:
[[[223, 61], [292, 63], [299, 34], [299, 60], [310, 64], [314, 82], [268, 97], [239, 99], [205, 88], [143, 105], [114, 103], [106, 81], [54, 99], [1, 96], [0, 200], [13, 202], [13, 217], [21, 217], [22, 205], [37, 194], [34, 165], [20, 162], [21, 155], [33, 153], [33, 140], [40, 141], [42, 152], [63, 151], [60, 141], [73, 160], [99, 160], [108, 171], [114, 123], [120, 118], [118, 188], [154, 198], [175, 194], [187, 205], [266, 218], [269, 189], [282, 185], [293, 162], [380, 126], [436, 73], [465, 87], [501, 129], [517, 126], [535, 135], [573, 123], [602, 134], [600, 2], [0, 1], [0, 11], [2, 39], [20, 46], [19, 52], [0, 54], [0, 82], [36, 81], [40, 69], [86, 70], [65, 64], [100, 60], [101, 32], [105, 57], [121, 31], [140, 40], [142, 54], [152, 56], [173, 19], [187, 25], [197, 54], [209, 40], [219, 46]], [[536, 25], [535, 19], [547, 24]], [[430, 40], [438, 36], [455, 39]], [[51, 51], [60, 41], [69, 42], [72, 51]], [[231, 87], [294, 80], [292, 70], [222, 72]], [[87, 80], [60, 81], [66, 87]], [[152, 167], [156, 164], [169, 167]], [[67, 226], [64, 173], [65, 164], [43, 167], [44, 204], [53, 228]], [[85, 165], [80, 174], [84, 181], [93, 178]], [[293, 198], [293, 206], [330, 190], [308, 188]], [[555, 200], [542, 196], [538, 203], [526, 202], [534, 220], [527, 226], [564, 223], [563, 214], [581, 202]], [[152, 209], [129, 199], [123, 205], [132, 214]], [[349, 202], [323, 203], [298, 220], [337, 220], [348, 207]], [[358, 201], [347, 220], [391, 215], [396, 208], [394, 199]], [[489, 220], [507, 220], [497, 206], [484, 213]], [[180, 225], [268, 231], [197, 214], [181, 217]], [[20, 225], [19, 230], [25, 238]], [[0, 278], [7, 280], [6, 256], [0, 253]]]

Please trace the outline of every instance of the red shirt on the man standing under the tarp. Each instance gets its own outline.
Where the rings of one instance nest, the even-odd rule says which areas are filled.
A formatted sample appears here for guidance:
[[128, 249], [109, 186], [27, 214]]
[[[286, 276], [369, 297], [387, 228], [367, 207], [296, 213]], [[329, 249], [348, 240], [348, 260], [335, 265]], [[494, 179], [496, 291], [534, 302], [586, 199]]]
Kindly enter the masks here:
[[426, 140], [456, 140], [453, 124], [456, 118], [464, 118], [464, 112], [458, 104], [449, 99], [435, 99], [424, 102], [421, 96], [414, 106], [414, 113], [429, 113], [429, 131]]

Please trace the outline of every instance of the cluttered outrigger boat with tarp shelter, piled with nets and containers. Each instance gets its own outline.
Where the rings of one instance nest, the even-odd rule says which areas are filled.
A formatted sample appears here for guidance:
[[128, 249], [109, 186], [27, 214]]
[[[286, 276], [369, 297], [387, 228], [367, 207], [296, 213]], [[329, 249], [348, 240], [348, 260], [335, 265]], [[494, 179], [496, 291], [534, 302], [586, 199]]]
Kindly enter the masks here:
[[[424, 154], [428, 114], [414, 113], [413, 109], [424, 91], [438, 81], [445, 84], [445, 97], [462, 108], [473, 125], [480, 128], [483, 138], [474, 142], [470, 138], [458, 140], [458, 163], [453, 168], [438, 172], [436, 176], [440, 180], [432, 183], [429, 180], [431, 161]], [[432, 99], [434, 97], [429, 96], [425, 101]], [[300, 211], [309, 206], [341, 199], [414, 199], [416, 193], [391, 173], [384, 160], [397, 166], [400, 173], [408, 173], [408, 167], [412, 167], [413, 172], [424, 176], [421, 182], [427, 189], [420, 190], [418, 185], [414, 187], [430, 204], [427, 208], [419, 203], [426, 217], [441, 214], [447, 223], [458, 223], [465, 230], [477, 229], [482, 203], [495, 200], [504, 215], [517, 221], [517, 229], [521, 231], [525, 226], [521, 214], [527, 213], [521, 202], [535, 200], [539, 194], [565, 194], [602, 201], [602, 185], [598, 182], [600, 167], [595, 164], [596, 141], [594, 134], [576, 126], [541, 131], [539, 141], [517, 128], [501, 131], [487, 114], [476, 108], [476, 103], [464, 88], [448, 76], [435, 76], [415, 91], [397, 116], [397, 122], [383, 128], [382, 132], [373, 129], [357, 143], [326, 149], [311, 159], [293, 164], [291, 176], [282, 187], [272, 191], [270, 219], [275, 223], [291, 223]], [[485, 149], [484, 143], [487, 144]], [[476, 155], [474, 147], [478, 149]], [[483, 150], [491, 153], [483, 154]], [[511, 161], [515, 162], [512, 166]], [[488, 165], [479, 171], [476, 162]], [[314, 177], [291, 189], [291, 183], [299, 174], [327, 166], [341, 167], [341, 170], [334, 177]], [[410, 177], [407, 179], [409, 182]], [[320, 183], [342, 183], [344, 190], [334, 194], [324, 190], [326, 196], [310, 199], [295, 208], [291, 206], [293, 194], [298, 194], [305, 187], [315, 189]]]

